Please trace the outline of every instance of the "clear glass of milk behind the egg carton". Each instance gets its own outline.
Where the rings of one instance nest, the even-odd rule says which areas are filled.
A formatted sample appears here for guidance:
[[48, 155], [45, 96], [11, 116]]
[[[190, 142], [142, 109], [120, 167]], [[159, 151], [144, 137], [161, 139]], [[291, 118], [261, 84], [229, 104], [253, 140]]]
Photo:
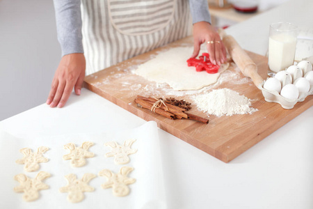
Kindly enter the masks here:
[[270, 25], [268, 40], [268, 67], [279, 72], [294, 64], [298, 26], [289, 22]]

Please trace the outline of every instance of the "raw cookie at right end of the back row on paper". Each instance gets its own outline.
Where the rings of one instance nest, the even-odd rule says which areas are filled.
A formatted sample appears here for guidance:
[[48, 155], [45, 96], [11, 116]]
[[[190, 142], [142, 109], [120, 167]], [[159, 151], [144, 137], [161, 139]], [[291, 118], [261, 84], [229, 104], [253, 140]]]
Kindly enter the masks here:
[[129, 162], [129, 157], [127, 155], [134, 154], [137, 149], [131, 148], [136, 139], [127, 139], [124, 141], [123, 145], [118, 144], [116, 141], [109, 141], [104, 144], [104, 146], [111, 146], [111, 152], [106, 153], [106, 157], [114, 156], [115, 164], [127, 164]]

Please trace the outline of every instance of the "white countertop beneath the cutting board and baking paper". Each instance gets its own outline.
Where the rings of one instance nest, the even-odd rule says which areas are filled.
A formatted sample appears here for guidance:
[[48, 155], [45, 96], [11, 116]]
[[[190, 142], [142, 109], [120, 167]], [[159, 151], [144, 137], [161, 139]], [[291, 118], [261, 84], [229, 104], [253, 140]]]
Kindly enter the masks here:
[[[244, 49], [264, 55], [271, 22], [312, 26], [312, 8], [312, 1], [288, 1], [231, 26], [227, 33]], [[23, 138], [118, 131], [144, 123], [83, 89], [62, 109], [42, 104], [1, 121], [0, 127]], [[310, 107], [228, 164], [159, 130], [168, 208], [313, 208], [312, 124]]]

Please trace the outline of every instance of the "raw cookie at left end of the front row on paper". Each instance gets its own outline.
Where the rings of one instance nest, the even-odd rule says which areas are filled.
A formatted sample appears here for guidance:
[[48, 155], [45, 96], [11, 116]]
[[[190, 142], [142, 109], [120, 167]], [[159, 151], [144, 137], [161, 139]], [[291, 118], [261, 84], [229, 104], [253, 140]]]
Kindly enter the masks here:
[[21, 173], [14, 176], [14, 179], [17, 180], [20, 185], [14, 187], [14, 192], [24, 192], [23, 200], [24, 201], [34, 201], [39, 198], [39, 190], [49, 189], [49, 186], [45, 183], [42, 183], [42, 180], [49, 178], [50, 173], [45, 171], [40, 171], [37, 176], [33, 179], [27, 177], [25, 174]]

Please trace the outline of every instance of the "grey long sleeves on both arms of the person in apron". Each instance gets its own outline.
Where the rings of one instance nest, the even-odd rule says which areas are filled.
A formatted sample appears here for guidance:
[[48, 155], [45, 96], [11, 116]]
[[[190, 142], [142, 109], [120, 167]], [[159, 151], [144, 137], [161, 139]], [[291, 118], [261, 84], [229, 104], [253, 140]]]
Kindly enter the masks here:
[[[62, 56], [72, 53], [83, 53], [80, 6], [81, 0], [54, 0], [56, 28]], [[189, 6], [193, 24], [201, 21], [211, 23], [207, 0], [189, 0]]]

